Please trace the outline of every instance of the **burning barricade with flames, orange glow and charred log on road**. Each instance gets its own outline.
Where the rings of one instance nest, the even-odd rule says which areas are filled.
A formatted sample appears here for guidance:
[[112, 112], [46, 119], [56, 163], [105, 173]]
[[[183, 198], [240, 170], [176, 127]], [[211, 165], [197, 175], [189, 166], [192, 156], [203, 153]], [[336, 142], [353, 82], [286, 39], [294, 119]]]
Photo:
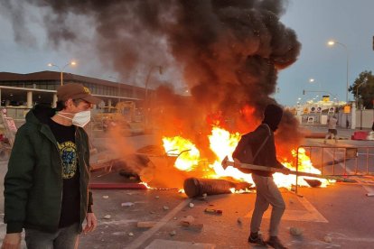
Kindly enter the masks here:
[[[138, 150], [136, 155], [146, 160], [143, 167], [138, 167], [136, 173], [141, 181], [152, 188], [184, 189], [190, 198], [202, 195], [226, 194], [231, 192], [248, 191], [253, 188], [250, 173], [244, 173], [241, 167], [252, 170], [276, 171], [251, 164], [235, 163], [228, 159], [238, 144], [240, 135], [230, 134], [225, 129], [213, 127], [209, 135], [210, 150], [215, 157], [213, 162], [201, 158], [201, 152], [195, 144], [182, 136], [164, 137], [164, 148], [147, 146]], [[157, 148], [157, 150], [155, 150]], [[290, 174], [275, 172], [274, 179], [279, 187], [293, 189], [298, 179], [298, 186], [326, 187], [329, 184], [321, 171], [313, 167], [304, 149], [293, 151], [293, 158], [282, 163], [289, 168]], [[295, 171], [293, 161], [298, 157], [299, 167]]]

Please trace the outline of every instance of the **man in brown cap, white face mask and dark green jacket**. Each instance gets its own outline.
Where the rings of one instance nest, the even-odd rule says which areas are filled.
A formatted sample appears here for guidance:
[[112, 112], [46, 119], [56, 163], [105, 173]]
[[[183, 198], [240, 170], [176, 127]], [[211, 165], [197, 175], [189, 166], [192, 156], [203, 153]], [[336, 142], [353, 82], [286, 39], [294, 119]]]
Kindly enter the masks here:
[[[74, 248], [97, 226], [89, 192], [88, 88], [57, 89], [57, 107], [35, 106], [15, 135], [5, 175], [6, 235], [2, 248]], [[86, 219], [86, 226], [82, 223]]]

